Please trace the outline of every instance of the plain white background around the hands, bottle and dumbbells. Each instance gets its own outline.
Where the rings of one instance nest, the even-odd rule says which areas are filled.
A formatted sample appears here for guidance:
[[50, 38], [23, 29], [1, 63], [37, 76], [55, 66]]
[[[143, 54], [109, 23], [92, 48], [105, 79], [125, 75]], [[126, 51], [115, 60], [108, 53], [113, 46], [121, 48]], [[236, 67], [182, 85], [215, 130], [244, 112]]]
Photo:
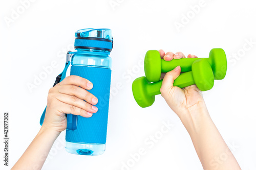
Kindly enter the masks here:
[[[256, 169], [255, 3], [205, 0], [193, 12], [191, 7], [198, 5], [199, 0], [37, 0], [23, 11], [20, 1], [1, 1], [1, 138], [3, 113], [10, 113], [9, 167], [1, 156], [1, 169], [10, 169], [39, 131], [48, 90], [64, 67], [65, 53], [73, 50], [74, 33], [84, 28], [110, 28], [114, 37], [106, 151], [101, 156], [69, 154], [62, 132], [42, 169], [122, 169], [127, 162], [130, 167], [125, 170], [202, 169], [188, 133], [161, 96], [153, 106], [140, 108], [131, 86], [135, 78], [144, 76], [147, 50], [162, 48], [208, 57], [214, 47], [225, 50], [228, 71], [224, 80], [204, 92], [207, 108], [242, 169]], [[20, 14], [12, 18], [13, 11]], [[190, 17], [187, 23], [184, 15]], [[8, 18], [13, 20], [7, 23]], [[177, 22], [184, 23], [183, 27], [177, 29]], [[57, 62], [57, 67], [51, 62]], [[30, 91], [28, 83], [33, 84], [35, 77], [45, 74], [43, 67], [50, 66], [50, 74]], [[167, 121], [174, 126], [158, 136], [151, 148], [145, 141], [160, 135]], [[1, 142], [0, 155], [3, 148]], [[145, 155], [135, 161], [131, 154], [140, 148]]]

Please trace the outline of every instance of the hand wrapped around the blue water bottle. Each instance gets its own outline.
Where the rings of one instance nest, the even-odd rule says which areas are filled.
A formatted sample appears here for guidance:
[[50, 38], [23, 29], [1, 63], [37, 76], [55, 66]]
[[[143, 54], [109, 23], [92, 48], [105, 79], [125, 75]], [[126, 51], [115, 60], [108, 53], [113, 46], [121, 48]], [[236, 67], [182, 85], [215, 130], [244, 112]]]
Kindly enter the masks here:
[[67, 128], [66, 114], [91, 117], [98, 99], [89, 91], [93, 84], [79, 76], [69, 76], [49, 90], [46, 117], [42, 126], [61, 132]]

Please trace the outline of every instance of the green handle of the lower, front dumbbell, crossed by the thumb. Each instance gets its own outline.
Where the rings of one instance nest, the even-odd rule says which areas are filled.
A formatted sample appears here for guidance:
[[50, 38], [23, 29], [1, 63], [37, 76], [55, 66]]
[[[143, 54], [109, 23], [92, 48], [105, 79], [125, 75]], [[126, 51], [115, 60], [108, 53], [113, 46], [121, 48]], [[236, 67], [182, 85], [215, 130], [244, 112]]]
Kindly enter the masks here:
[[[163, 80], [160, 80], [158, 82], [151, 83], [150, 85], [146, 86], [148, 94], [161, 94], [160, 88], [162, 86], [162, 82]], [[180, 88], [187, 87], [193, 84], [195, 84], [195, 81], [192, 75], [192, 71], [183, 72], [177, 79], [174, 80], [174, 86], [178, 86]]]

